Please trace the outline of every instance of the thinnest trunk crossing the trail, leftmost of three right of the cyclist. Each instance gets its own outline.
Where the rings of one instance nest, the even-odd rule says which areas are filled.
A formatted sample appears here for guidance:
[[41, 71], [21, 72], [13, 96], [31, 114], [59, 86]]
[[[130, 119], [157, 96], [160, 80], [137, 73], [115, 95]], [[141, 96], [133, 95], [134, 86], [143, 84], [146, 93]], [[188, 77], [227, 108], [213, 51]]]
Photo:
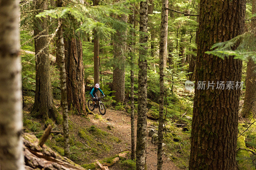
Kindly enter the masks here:
[[[129, 16], [130, 17], [130, 24], [134, 25], [134, 11]], [[130, 32], [133, 37], [135, 37], [135, 32]], [[128, 44], [129, 56], [131, 58], [131, 144], [132, 144], [132, 151], [131, 151], [131, 159], [135, 159], [135, 121], [134, 121], [134, 71], [133, 71], [133, 53], [134, 50], [131, 45], [135, 45], [134, 38], [132, 38], [132, 43]]]

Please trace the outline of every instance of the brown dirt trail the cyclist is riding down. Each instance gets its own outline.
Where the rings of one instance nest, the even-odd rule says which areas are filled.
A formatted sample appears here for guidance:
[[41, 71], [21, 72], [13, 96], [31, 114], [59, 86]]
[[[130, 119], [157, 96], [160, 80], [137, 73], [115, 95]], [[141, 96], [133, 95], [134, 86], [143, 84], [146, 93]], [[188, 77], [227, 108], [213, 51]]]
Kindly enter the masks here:
[[[99, 111], [94, 111], [95, 114], [100, 114]], [[89, 117], [93, 117], [90, 115]], [[127, 115], [126, 112], [120, 112], [116, 110], [106, 110], [106, 114], [102, 116], [103, 119], [110, 119], [110, 122], [114, 129], [112, 130], [113, 135], [122, 140], [122, 145], [120, 150], [125, 150], [131, 148], [131, 118]], [[101, 128], [106, 128], [106, 122], [100, 122], [97, 120], [91, 119], [95, 124]], [[147, 125], [148, 126], [148, 125]], [[136, 140], [136, 129], [137, 129], [137, 120], [135, 122], [135, 140]], [[136, 141], [135, 141], [136, 142]], [[136, 145], [136, 144], [135, 144]], [[136, 147], [136, 146], [135, 146]], [[151, 138], [148, 137], [147, 133], [147, 167], [148, 170], [157, 169], [157, 145], [151, 143]], [[118, 165], [114, 165], [109, 168], [110, 170], [119, 169]], [[163, 155], [163, 170], [180, 170], [177, 166], [173, 164], [172, 161], [168, 161], [167, 157]]]

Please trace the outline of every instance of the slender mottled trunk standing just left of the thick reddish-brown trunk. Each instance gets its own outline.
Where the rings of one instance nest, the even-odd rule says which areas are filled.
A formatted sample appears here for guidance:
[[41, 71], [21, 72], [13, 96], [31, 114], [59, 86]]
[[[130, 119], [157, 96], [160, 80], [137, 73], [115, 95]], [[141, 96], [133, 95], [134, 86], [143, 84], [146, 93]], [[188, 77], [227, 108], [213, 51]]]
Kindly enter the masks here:
[[[58, 7], [62, 7], [62, 0], [58, 0]], [[61, 57], [60, 62], [60, 89], [61, 89], [61, 103], [63, 115], [63, 138], [64, 138], [64, 156], [70, 158], [69, 155], [69, 133], [68, 133], [68, 99], [67, 99], [67, 83], [66, 83], [66, 68], [65, 68], [65, 49], [62, 31], [62, 21], [59, 19], [59, 47], [58, 55]]]

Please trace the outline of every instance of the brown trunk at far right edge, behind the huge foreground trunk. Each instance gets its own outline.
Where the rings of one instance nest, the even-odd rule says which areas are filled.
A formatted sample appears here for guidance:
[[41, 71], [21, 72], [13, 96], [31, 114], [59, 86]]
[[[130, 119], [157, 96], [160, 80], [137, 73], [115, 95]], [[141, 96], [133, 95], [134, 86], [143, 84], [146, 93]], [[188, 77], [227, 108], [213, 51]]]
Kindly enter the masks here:
[[[256, 1], [252, 1], [252, 14], [256, 13]], [[252, 19], [255, 19], [253, 17]], [[256, 21], [251, 21], [251, 28], [256, 26]], [[253, 32], [256, 35], [256, 32]], [[256, 64], [249, 59], [247, 62], [244, 105], [241, 112], [242, 117], [248, 118], [251, 114], [256, 118]]]

